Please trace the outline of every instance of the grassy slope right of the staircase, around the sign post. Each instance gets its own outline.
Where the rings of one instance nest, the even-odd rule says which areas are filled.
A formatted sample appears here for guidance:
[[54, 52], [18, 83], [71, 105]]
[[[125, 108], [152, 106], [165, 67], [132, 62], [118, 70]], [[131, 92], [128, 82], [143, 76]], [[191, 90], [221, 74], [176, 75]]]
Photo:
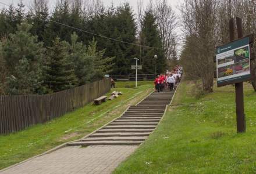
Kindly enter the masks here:
[[[215, 85], [216, 86], [216, 85]], [[256, 173], [256, 92], [244, 83], [247, 132], [236, 133], [234, 87], [195, 99], [184, 81], [158, 129], [114, 173]]]

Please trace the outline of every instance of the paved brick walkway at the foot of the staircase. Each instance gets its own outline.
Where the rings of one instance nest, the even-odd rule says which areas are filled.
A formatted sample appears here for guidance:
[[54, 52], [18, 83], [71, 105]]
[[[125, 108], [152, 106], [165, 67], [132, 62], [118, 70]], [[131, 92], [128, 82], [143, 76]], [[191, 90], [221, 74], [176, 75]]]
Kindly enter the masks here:
[[111, 173], [138, 146], [65, 147], [19, 164], [1, 174]]

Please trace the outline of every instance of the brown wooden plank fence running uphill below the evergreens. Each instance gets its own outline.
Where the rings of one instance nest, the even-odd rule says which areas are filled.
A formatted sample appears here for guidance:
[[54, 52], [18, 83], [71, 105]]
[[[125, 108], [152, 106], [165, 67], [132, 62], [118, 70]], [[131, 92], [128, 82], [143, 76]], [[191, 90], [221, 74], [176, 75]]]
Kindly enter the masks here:
[[49, 95], [0, 96], [0, 135], [60, 117], [92, 102], [110, 89], [110, 81], [105, 78]]

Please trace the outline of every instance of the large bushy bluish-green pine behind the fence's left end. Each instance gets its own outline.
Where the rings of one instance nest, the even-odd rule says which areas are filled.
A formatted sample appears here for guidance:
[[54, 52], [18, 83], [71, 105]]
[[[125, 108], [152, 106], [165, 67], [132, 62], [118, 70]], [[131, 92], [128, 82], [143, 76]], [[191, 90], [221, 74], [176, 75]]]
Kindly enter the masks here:
[[44, 53], [42, 42], [31, 35], [30, 24], [22, 23], [2, 43], [2, 57], [8, 68], [6, 92], [10, 95], [36, 93], [42, 88]]

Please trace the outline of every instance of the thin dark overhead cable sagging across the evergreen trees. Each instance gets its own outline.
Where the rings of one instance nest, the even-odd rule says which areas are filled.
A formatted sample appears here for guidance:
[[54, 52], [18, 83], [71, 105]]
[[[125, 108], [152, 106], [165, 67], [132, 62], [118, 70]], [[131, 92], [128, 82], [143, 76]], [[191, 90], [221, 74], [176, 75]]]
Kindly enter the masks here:
[[[2, 5], [9, 6], [8, 4], [3, 3], [3, 2], [0, 2], [0, 3], [1, 3]], [[133, 43], [126, 42], [126, 41], [121, 41], [121, 40], [115, 39], [115, 38], [109, 38], [109, 37], [106, 37], [106, 36], [101, 35], [101, 34], [95, 34], [95, 33], [93, 33], [93, 32], [86, 31], [86, 30], [83, 30], [83, 29], [81, 29], [81, 28], [76, 28], [76, 27], [69, 26], [69, 25], [67, 25], [67, 24], [59, 23], [58, 21], [54, 21], [54, 20], [51, 20], [51, 19], [49, 19], [49, 21], [52, 21], [52, 22], [54, 22], [54, 23], [56, 23], [56, 24], [59, 24], [59, 25], [61, 25], [61, 26], [65, 26], [65, 27], [68, 27], [68, 28], [72, 28], [72, 29], [78, 30], [78, 31], [80, 31], [80, 32], [86, 32], [87, 34], [95, 35], [95, 36], [97, 36], [97, 37], [102, 37], [102, 38], [109, 39], [109, 40], [112, 40], [112, 41], [122, 42], [122, 43], [124, 43], [124, 44], [129, 44], [129, 45], [134, 45], [134, 46], [140, 46], [140, 47], [144, 47], [144, 48], [161, 49], [161, 48], [157, 48], [157, 47], [151, 47], [151, 46], [133, 44]]]

